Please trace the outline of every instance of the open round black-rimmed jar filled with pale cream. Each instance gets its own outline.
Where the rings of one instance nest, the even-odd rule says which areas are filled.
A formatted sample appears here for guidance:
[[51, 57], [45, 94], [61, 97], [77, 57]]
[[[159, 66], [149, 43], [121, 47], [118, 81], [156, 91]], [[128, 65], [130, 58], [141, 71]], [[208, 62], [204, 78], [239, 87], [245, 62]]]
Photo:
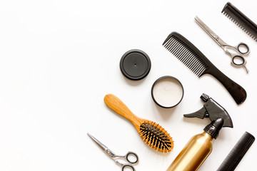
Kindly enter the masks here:
[[173, 108], [183, 98], [183, 86], [173, 76], [158, 78], [151, 88], [153, 101], [162, 108]]

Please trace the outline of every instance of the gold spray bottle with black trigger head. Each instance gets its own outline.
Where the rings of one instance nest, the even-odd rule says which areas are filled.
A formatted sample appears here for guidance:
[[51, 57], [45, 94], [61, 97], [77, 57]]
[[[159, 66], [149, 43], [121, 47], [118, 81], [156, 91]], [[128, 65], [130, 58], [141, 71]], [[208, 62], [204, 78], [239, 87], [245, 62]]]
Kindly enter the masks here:
[[203, 129], [203, 133], [194, 135], [191, 140], [188, 141], [186, 146], [183, 147], [183, 150], [181, 150], [168, 167], [167, 171], [198, 170], [208, 155], [211, 154], [213, 138], [218, 138], [218, 133], [221, 128], [233, 128], [230, 116], [221, 105], [216, 103], [212, 98], [209, 98], [206, 94], [201, 95], [201, 99], [206, 102], [206, 104], [203, 105], [203, 108], [196, 113], [184, 116], [201, 119], [209, 117], [211, 123]]

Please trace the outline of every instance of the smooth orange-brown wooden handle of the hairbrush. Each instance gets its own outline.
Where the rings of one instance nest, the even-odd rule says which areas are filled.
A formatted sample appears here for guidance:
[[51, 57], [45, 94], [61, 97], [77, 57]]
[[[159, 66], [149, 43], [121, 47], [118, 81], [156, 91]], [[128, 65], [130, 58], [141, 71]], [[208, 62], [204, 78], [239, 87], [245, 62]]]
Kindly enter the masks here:
[[140, 125], [141, 119], [134, 115], [131, 110], [115, 95], [108, 94], [104, 97], [104, 103], [108, 105], [109, 108], [114, 110], [116, 113], [124, 116], [133, 123], [133, 125]]

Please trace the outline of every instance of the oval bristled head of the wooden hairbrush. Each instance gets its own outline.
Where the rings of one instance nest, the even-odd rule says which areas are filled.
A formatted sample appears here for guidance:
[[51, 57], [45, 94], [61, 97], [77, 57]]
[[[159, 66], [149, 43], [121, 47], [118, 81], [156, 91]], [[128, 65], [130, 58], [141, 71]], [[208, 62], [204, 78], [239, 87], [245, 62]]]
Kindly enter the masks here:
[[145, 122], [140, 125], [140, 136], [150, 147], [160, 152], [170, 152], [173, 149], [171, 136], [160, 125]]

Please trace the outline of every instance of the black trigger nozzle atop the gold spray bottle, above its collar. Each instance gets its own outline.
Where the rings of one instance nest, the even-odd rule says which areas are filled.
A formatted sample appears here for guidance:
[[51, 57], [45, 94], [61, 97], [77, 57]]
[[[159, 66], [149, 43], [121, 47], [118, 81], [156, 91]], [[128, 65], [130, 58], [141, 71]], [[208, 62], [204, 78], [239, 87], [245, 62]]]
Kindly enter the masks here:
[[217, 118], [223, 118], [224, 123], [223, 127], [230, 127], [233, 128], [233, 123], [231, 117], [228, 115], [226, 109], [224, 109], [221, 105], [216, 103], [215, 100], [210, 98], [208, 95], [204, 94], [201, 95], [201, 100], [205, 102], [203, 108], [196, 111], [195, 113], [190, 113], [184, 115], [186, 118], [210, 118], [211, 121], [216, 120]]

